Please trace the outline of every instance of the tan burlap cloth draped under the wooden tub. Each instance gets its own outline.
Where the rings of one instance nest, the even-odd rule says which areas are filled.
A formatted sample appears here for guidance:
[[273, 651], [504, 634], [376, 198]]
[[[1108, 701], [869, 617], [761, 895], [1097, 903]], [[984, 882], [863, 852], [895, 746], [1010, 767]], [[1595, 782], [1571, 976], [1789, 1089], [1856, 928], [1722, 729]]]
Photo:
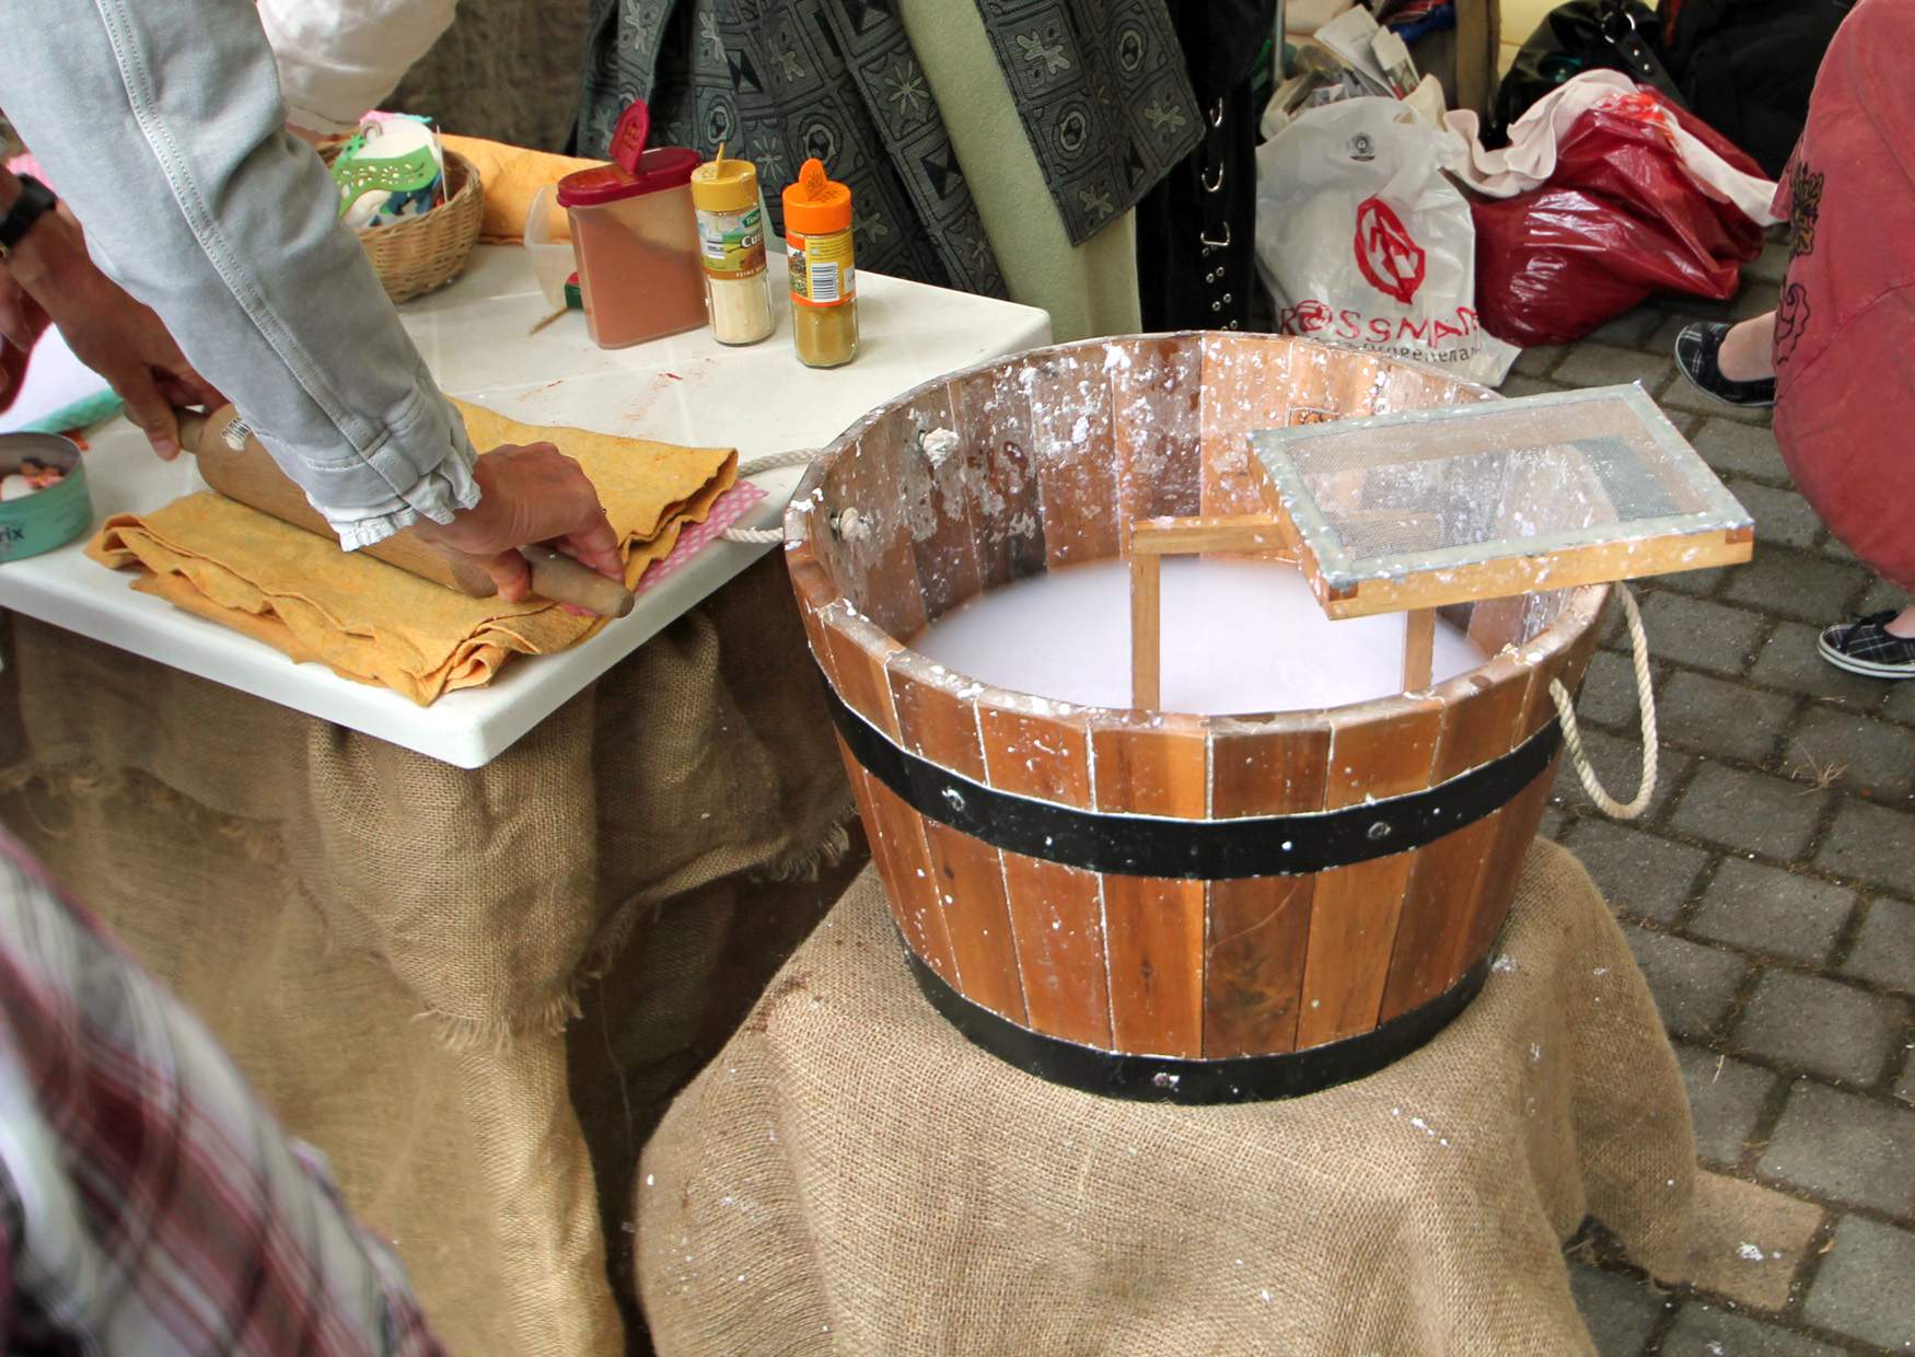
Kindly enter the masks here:
[[1589, 1353], [1586, 1213], [1685, 1267], [1676, 1057], [1582, 867], [1538, 842], [1476, 1001], [1291, 1102], [1116, 1102], [971, 1047], [866, 873], [672, 1104], [638, 1284], [678, 1353]]

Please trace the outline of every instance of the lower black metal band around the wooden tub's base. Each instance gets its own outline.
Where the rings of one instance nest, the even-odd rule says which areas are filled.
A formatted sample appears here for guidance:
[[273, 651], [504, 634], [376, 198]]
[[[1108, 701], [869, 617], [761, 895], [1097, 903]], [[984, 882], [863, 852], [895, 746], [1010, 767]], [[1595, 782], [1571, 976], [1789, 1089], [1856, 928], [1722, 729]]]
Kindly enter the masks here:
[[1189, 1104], [1298, 1099], [1375, 1074], [1450, 1026], [1450, 1020], [1469, 1007], [1490, 974], [1490, 959], [1484, 957], [1434, 999], [1419, 1003], [1409, 1012], [1400, 1012], [1369, 1032], [1329, 1045], [1281, 1055], [1183, 1060], [1164, 1055], [1099, 1051], [1030, 1032], [965, 999], [919, 961], [910, 945], [904, 947], [904, 955], [910, 959], [917, 988], [925, 991], [931, 1007], [944, 1014], [971, 1045], [982, 1047], [1005, 1064], [1049, 1083], [1105, 1099]]

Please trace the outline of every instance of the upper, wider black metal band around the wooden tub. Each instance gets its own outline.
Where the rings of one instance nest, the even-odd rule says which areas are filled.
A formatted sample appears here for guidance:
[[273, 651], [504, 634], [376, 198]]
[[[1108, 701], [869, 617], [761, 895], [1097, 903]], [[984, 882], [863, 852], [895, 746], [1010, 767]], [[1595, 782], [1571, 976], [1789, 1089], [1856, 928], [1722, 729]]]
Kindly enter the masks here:
[[1293, 877], [1402, 854], [1513, 800], [1549, 767], [1551, 718], [1488, 764], [1421, 792], [1306, 815], [1168, 819], [1113, 815], [1002, 792], [898, 748], [825, 681], [825, 704], [852, 758], [919, 815], [994, 848], [1118, 877], [1231, 880]]

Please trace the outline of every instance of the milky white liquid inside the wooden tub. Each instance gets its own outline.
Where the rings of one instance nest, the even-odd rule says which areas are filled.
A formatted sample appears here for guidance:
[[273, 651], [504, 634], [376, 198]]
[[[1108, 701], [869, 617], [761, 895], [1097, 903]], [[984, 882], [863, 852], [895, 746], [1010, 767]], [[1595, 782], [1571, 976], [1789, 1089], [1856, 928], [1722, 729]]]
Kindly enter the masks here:
[[[1283, 561], [1166, 557], [1162, 708], [1291, 712], [1402, 691], [1404, 614], [1331, 622]], [[912, 649], [948, 670], [1080, 706], [1130, 706], [1130, 567], [1092, 561], [990, 590]], [[1431, 681], [1484, 662], [1436, 618]]]

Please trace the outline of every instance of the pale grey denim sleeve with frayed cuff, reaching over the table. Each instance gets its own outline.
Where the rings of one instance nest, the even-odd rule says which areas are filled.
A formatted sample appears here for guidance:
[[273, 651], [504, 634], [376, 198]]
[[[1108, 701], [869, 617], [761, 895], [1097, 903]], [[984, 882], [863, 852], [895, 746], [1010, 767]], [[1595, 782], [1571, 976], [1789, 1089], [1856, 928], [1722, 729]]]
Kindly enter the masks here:
[[347, 545], [477, 501], [465, 431], [310, 149], [249, 0], [0, 0], [6, 107], [86, 224]]

